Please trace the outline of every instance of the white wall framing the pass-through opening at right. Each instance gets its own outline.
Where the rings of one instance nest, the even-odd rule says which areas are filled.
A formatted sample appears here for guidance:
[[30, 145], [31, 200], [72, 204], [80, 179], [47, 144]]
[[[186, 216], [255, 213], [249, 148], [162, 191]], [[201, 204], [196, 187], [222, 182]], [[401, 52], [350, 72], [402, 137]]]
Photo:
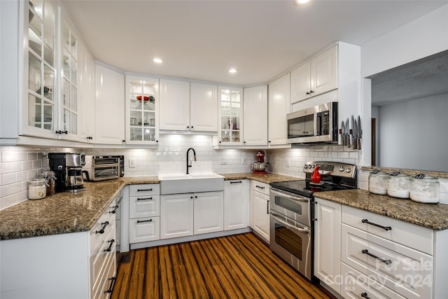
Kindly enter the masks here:
[[[361, 46], [363, 78], [448, 49], [448, 4]], [[363, 153], [361, 165], [370, 165], [370, 80], [363, 80]]]

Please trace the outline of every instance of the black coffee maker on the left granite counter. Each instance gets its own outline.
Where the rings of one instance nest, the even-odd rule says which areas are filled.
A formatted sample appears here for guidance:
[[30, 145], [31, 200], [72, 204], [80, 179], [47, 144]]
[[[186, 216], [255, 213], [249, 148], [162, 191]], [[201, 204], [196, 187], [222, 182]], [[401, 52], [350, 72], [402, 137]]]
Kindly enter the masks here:
[[56, 176], [56, 192], [76, 193], [85, 190], [83, 158], [84, 155], [80, 153], [48, 153], [48, 164]]

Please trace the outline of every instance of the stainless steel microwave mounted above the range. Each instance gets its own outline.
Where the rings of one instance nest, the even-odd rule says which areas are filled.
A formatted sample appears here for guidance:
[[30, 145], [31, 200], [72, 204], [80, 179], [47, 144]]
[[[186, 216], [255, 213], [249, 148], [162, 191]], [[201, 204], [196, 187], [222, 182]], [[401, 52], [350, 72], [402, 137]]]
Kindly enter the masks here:
[[288, 143], [337, 142], [337, 102], [289, 113]]

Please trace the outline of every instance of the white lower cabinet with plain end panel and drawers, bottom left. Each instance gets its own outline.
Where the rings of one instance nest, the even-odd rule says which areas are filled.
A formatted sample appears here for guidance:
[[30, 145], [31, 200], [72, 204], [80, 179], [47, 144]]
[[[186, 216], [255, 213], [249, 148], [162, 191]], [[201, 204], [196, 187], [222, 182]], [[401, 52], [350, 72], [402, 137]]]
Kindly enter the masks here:
[[0, 298], [109, 298], [117, 268], [115, 205], [86, 232], [0, 241]]

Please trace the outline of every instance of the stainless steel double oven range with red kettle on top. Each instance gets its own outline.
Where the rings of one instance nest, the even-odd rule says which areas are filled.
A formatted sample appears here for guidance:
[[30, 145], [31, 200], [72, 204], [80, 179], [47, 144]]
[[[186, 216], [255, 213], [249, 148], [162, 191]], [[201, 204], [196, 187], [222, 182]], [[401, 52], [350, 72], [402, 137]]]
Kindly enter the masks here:
[[[311, 183], [320, 165], [321, 182]], [[357, 187], [356, 166], [337, 162], [307, 162], [305, 180], [271, 183], [269, 247], [307, 279], [314, 259], [314, 193]]]

